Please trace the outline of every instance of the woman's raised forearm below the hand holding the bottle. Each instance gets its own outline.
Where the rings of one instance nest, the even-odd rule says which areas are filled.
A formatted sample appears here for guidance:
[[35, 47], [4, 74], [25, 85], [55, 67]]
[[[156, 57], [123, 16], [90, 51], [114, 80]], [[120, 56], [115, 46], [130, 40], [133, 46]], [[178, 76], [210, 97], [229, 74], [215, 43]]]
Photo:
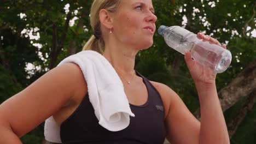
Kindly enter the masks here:
[[196, 88], [201, 109], [199, 143], [230, 143], [216, 85], [196, 83]]

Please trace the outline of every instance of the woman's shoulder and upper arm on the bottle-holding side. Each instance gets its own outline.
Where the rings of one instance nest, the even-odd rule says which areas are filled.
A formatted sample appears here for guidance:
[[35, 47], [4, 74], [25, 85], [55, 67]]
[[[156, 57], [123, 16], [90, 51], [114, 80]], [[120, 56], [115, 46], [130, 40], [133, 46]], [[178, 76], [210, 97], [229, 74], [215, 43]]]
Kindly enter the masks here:
[[200, 122], [176, 92], [162, 83], [154, 83], [165, 106], [167, 139], [171, 143], [198, 143]]

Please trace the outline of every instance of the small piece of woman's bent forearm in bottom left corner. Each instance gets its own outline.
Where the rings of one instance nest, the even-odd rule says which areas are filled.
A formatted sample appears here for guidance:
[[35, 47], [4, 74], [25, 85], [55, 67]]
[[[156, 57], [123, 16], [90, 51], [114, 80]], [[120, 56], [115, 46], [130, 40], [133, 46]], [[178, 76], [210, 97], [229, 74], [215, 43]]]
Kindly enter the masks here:
[[14, 132], [0, 125], [0, 143], [21, 144], [19, 137]]

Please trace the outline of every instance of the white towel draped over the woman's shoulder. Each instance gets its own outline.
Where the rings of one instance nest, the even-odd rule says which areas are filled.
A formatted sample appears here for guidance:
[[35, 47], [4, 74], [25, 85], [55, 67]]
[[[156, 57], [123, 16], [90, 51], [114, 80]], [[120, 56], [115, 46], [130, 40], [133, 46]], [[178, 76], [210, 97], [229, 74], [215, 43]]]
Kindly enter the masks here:
[[[112, 65], [95, 51], [79, 52], [63, 59], [59, 65], [71, 62], [78, 64], [84, 74], [98, 123], [110, 131], [125, 129], [130, 123], [130, 116], [135, 115]], [[45, 121], [44, 136], [47, 141], [61, 143], [60, 127], [52, 116]]]

